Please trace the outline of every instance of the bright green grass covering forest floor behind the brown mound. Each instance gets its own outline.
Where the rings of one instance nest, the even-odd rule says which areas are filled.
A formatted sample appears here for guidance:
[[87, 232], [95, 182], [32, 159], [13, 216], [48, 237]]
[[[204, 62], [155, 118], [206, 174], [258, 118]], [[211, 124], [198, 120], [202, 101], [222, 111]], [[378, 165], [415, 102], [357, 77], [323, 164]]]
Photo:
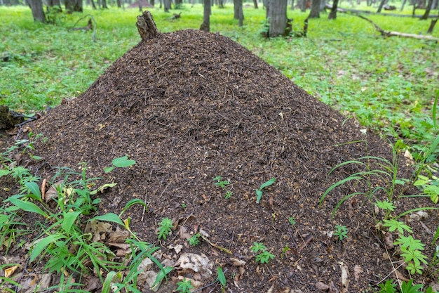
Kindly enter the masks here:
[[[361, 7], [365, 8], [365, 7]], [[410, 14], [406, 6], [405, 14]], [[182, 19], [153, 8], [158, 30], [198, 29], [201, 6], [185, 4]], [[87, 13], [97, 22], [96, 41], [90, 32], [69, 31]], [[292, 82], [324, 103], [358, 119], [381, 134], [407, 143], [432, 141], [438, 135], [431, 111], [438, 91], [438, 44], [417, 39], [383, 39], [370, 23], [338, 13], [337, 20], [309, 20], [307, 38], [259, 36], [265, 11], [244, 9], [244, 27], [233, 19], [233, 7], [212, 9], [211, 31], [238, 41], [281, 70]], [[399, 13], [399, 12], [397, 12]], [[421, 11], [419, 11], [421, 13]], [[32, 21], [27, 7], [1, 7], [0, 104], [19, 112], [55, 106], [63, 98], [79, 96], [104, 70], [132, 48], [140, 37], [135, 27], [137, 9], [62, 15], [57, 25]], [[293, 28], [302, 30], [309, 11], [288, 10]], [[417, 18], [367, 15], [384, 30], [424, 34], [430, 23]], [[88, 18], [79, 26], [86, 25]], [[439, 37], [439, 29], [433, 32]]]

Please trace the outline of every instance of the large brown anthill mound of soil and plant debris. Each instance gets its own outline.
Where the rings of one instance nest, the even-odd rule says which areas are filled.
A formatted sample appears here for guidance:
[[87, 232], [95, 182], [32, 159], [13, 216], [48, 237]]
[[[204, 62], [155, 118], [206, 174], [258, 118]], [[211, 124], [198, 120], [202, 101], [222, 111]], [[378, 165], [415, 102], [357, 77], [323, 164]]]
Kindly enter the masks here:
[[[141, 41], [79, 98], [65, 100], [31, 127], [45, 138], [33, 152], [43, 161], [22, 158], [20, 164], [51, 178], [56, 167], [80, 171], [79, 163], [86, 162], [88, 177], [118, 183], [100, 195], [99, 214], [119, 214], [129, 200], [144, 200], [147, 211], [135, 207], [126, 214], [131, 229], [172, 257], [177, 258], [172, 249], [176, 245], [182, 245], [183, 252], [207, 256], [215, 273], [201, 278], [203, 285], [215, 281], [217, 266], [226, 271], [225, 292], [318, 292], [322, 283], [330, 286], [323, 287], [329, 292], [362, 292], [376, 289], [386, 277], [396, 279], [386, 259], [384, 233], [375, 228], [382, 215], [374, 214], [365, 196], [346, 200], [332, 218], [339, 200], [364, 192], [365, 186], [336, 188], [319, 206], [326, 188], [360, 170], [347, 165], [327, 177], [332, 167], [365, 155], [391, 160], [389, 141], [365, 134], [356, 121], [219, 34], [182, 30]], [[104, 167], [123, 155], [136, 164], [104, 174]], [[400, 176], [410, 178], [405, 158], [399, 163]], [[231, 184], [225, 189], [215, 186], [216, 176]], [[270, 178], [276, 182], [264, 188], [257, 203], [255, 190]], [[13, 188], [11, 181], [1, 185]], [[227, 190], [233, 192], [229, 199], [224, 197]], [[385, 197], [377, 194], [379, 200]], [[417, 197], [396, 205], [400, 213], [431, 202]], [[428, 214], [410, 226], [431, 257], [429, 233], [439, 218], [434, 211]], [[156, 228], [165, 217], [173, 219], [175, 230], [158, 241]], [[337, 224], [349, 228], [342, 241], [330, 237]], [[232, 254], [204, 240], [188, 245], [179, 234], [182, 227], [191, 233], [202, 229], [213, 245]], [[250, 250], [254, 242], [263, 242], [274, 259], [257, 263]], [[389, 254], [398, 261], [395, 250]], [[238, 267], [231, 258], [245, 265]], [[41, 271], [41, 263], [32, 270]], [[403, 268], [398, 271], [410, 278]], [[414, 278], [431, 282], [428, 276]], [[161, 290], [175, 289], [167, 288]], [[200, 292], [221, 288], [212, 285]]]

